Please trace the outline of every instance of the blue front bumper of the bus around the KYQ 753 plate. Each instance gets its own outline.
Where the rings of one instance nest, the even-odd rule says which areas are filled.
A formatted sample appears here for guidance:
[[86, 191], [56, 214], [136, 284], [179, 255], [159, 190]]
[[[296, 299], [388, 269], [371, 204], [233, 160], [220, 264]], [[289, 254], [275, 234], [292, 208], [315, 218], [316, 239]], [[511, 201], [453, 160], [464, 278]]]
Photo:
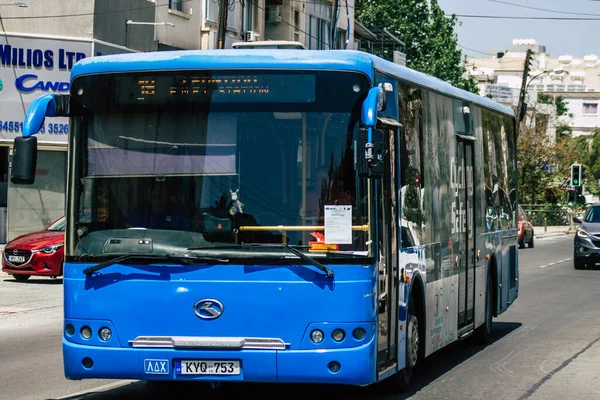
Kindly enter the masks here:
[[[272, 383], [330, 383], [364, 386], [375, 382], [375, 343], [317, 350], [175, 350], [99, 347], [63, 337], [67, 379], [140, 379]], [[239, 361], [239, 375], [186, 375], [181, 361]], [[332, 372], [332, 364], [339, 371]], [[334, 368], [335, 370], [336, 368]]]

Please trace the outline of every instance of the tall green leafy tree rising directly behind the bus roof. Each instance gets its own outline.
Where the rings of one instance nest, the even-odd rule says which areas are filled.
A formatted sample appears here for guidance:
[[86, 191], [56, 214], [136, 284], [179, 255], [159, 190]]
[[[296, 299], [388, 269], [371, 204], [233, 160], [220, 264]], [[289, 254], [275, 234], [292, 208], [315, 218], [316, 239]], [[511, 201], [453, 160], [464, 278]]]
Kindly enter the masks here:
[[409, 68], [479, 93], [475, 79], [464, 76], [466, 57], [454, 32], [458, 20], [446, 17], [437, 0], [357, 0], [355, 18], [399, 37]]

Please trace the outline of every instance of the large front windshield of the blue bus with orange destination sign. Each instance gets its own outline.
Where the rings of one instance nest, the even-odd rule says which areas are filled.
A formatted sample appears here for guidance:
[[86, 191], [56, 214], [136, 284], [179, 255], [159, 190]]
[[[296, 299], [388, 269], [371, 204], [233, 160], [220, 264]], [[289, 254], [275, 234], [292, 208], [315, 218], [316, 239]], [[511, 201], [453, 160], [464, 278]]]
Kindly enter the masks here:
[[346, 206], [353, 226], [327, 248], [367, 254], [367, 229], [355, 227], [371, 205], [355, 164], [369, 87], [357, 73], [315, 71], [75, 80], [67, 256], [242, 243], [309, 251], [325, 243], [326, 205]]

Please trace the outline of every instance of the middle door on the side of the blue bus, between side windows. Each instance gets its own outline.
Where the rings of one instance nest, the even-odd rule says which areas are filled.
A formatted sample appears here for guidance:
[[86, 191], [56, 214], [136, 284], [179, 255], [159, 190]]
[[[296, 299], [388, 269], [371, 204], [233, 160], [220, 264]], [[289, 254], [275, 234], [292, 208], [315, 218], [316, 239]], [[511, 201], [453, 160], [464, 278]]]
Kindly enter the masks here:
[[474, 223], [474, 138], [457, 135], [456, 142], [456, 210], [454, 231], [458, 234], [459, 249], [456, 257], [458, 267], [458, 334], [473, 329], [475, 316], [475, 223]]

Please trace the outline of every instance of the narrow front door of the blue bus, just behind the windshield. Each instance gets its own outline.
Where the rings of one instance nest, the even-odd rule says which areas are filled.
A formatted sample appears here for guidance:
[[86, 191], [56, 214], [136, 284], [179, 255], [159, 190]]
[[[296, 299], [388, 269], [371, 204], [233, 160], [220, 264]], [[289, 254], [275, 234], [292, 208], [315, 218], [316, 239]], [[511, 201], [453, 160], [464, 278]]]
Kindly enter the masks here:
[[398, 197], [397, 130], [385, 130], [389, 152], [383, 178], [375, 182], [378, 227], [377, 372], [392, 369], [398, 358]]

